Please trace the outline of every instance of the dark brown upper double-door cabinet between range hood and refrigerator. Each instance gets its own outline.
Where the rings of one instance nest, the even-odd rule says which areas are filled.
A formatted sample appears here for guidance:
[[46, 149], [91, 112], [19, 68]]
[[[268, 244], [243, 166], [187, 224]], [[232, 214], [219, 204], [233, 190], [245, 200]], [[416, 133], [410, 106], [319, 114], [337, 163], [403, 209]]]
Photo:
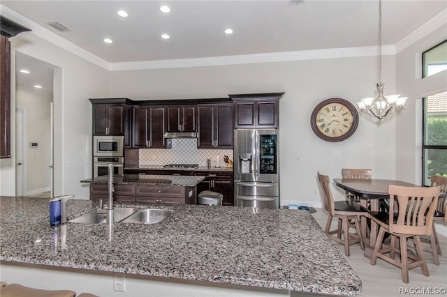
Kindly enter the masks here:
[[233, 105], [198, 105], [198, 148], [233, 148]]

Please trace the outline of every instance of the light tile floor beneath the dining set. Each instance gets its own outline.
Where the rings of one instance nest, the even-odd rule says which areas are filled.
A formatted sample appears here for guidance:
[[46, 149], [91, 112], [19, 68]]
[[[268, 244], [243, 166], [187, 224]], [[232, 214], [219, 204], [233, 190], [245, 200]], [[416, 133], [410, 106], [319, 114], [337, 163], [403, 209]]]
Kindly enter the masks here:
[[[316, 208], [316, 213], [313, 214], [315, 220], [324, 229], [328, 213], [321, 208]], [[332, 220], [334, 222], [335, 220]], [[349, 265], [356, 271], [357, 275], [362, 280], [362, 293], [360, 296], [367, 297], [385, 297], [385, 296], [447, 296], [447, 238], [439, 235], [439, 242], [441, 244], [442, 256], [439, 257], [440, 265], [434, 265], [432, 254], [425, 252], [425, 259], [427, 259], [428, 271], [430, 276], [426, 277], [422, 274], [420, 267], [412, 268], [409, 271], [409, 283], [402, 282], [402, 275], [400, 268], [389, 264], [386, 261], [377, 259], [376, 265], [369, 264], [369, 259], [363, 257], [363, 251], [360, 250], [360, 245], [351, 245], [350, 257], [345, 257]], [[339, 243], [335, 243], [338, 250], [344, 255], [344, 247]], [[419, 289], [444, 289], [444, 294], [417, 294], [413, 292], [409, 294], [408, 291]], [[406, 294], [405, 294], [406, 293]], [[434, 292], [433, 292], [434, 293]]]

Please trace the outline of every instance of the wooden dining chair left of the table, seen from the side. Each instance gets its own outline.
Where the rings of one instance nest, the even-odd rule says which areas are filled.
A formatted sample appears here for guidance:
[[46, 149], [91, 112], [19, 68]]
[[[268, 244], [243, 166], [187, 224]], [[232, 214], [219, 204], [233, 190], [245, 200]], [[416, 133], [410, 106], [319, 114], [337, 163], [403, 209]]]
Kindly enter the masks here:
[[[318, 182], [321, 187], [324, 208], [328, 211], [328, 222], [326, 222], [325, 234], [328, 238], [344, 245], [344, 254], [349, 257], [349, 246], [354, 243], [360, 243], [360, 248], [365, 250], [363, 244], [362, 232], [360, 231], [360, 216], [368, 216], [367, 211], [358, 203], [353, 201], [334, 201], [332, 191], [330, 190], [329, 176], [318, 172]], [[337, 229], [330, 229], [332, 218], [338, 219]], [[350, 228], [354, 228], [356, 233], [351, 233]], [[337, 234], [333, 236], [332, 234]]]

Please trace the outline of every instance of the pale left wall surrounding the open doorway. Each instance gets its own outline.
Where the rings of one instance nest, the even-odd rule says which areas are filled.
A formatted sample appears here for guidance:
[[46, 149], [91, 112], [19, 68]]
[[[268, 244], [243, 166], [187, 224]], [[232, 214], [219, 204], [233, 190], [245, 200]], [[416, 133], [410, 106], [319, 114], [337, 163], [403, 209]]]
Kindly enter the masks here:
[[[80, 183], [82, 179], [91, 178], [91, 103], [88, 98], [108, 96], [108, 71], [31, 32], [20, 33], [10, 41], [13, 53], [19, 51], [58, 68], [54, 77], [54, 195], [74, 194], [76, 199], [89, 199], [88, 185]], [[12, 73], [14, 71], [13, 65]], [[11, 110], [15, 110], [15, 92], [11, 102]], [[13, 114], [11, 121], [15, 123]], [[0, 195], [15, 195], [14, 130], [12, 134], [13, 157], [0, 161]]]

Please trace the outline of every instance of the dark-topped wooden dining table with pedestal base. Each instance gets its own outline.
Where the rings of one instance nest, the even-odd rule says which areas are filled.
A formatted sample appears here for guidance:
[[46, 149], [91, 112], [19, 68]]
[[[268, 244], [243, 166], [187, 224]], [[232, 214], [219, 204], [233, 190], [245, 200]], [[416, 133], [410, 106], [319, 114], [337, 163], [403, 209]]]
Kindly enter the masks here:
[[[390, 185], [420, 187], [420, 185], [406, 183], [404, 181], [376, 178], [334, 178], [334, 182], [339, 188], [358, 196], [360, 198], [360, 205], [369, 209], [369, 211], [379, 211], [380, 202], [386, 202], [390, 198], [388, 194]], [[371, 258], [374, 245], [376, 244], [377, 234], [379, 233], [379, 226], [373, 220], [369, 220], [369, 233], [367, 234], [367, 220], [365, 217], [361, 218], [360, 231], [362, 232], [365, 243], [364, 256]]]

